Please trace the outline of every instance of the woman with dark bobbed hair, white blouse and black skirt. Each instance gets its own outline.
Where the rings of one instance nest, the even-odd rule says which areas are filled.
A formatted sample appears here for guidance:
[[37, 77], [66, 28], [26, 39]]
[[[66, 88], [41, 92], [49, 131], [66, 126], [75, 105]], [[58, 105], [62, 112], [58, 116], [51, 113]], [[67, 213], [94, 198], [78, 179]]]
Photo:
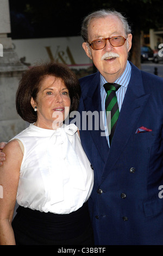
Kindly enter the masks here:
[[23, 74], [16, 109], [30, 125], [3, 150], [1, 245], [93, 245], [87, 209], [93, 172], [77, 126], [64, 124], [79, 97], [66, 65], [37, 65]]

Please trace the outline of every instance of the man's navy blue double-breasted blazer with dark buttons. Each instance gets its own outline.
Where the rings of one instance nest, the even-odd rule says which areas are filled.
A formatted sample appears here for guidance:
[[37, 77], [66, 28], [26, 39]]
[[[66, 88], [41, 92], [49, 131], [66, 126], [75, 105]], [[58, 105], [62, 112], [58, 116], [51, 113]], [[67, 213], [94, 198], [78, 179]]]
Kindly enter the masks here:
[[[102, 111], [99, 72], [80, 85], [80, 137], [95, 173], [89, 199], [95, 245], [163, 245], [163, 79], [131, 64], [110, 149], [97, 117], [92, 127], [82, 123], [88, 111]], [[141, 126], [152, 131], [136, 133]]]

